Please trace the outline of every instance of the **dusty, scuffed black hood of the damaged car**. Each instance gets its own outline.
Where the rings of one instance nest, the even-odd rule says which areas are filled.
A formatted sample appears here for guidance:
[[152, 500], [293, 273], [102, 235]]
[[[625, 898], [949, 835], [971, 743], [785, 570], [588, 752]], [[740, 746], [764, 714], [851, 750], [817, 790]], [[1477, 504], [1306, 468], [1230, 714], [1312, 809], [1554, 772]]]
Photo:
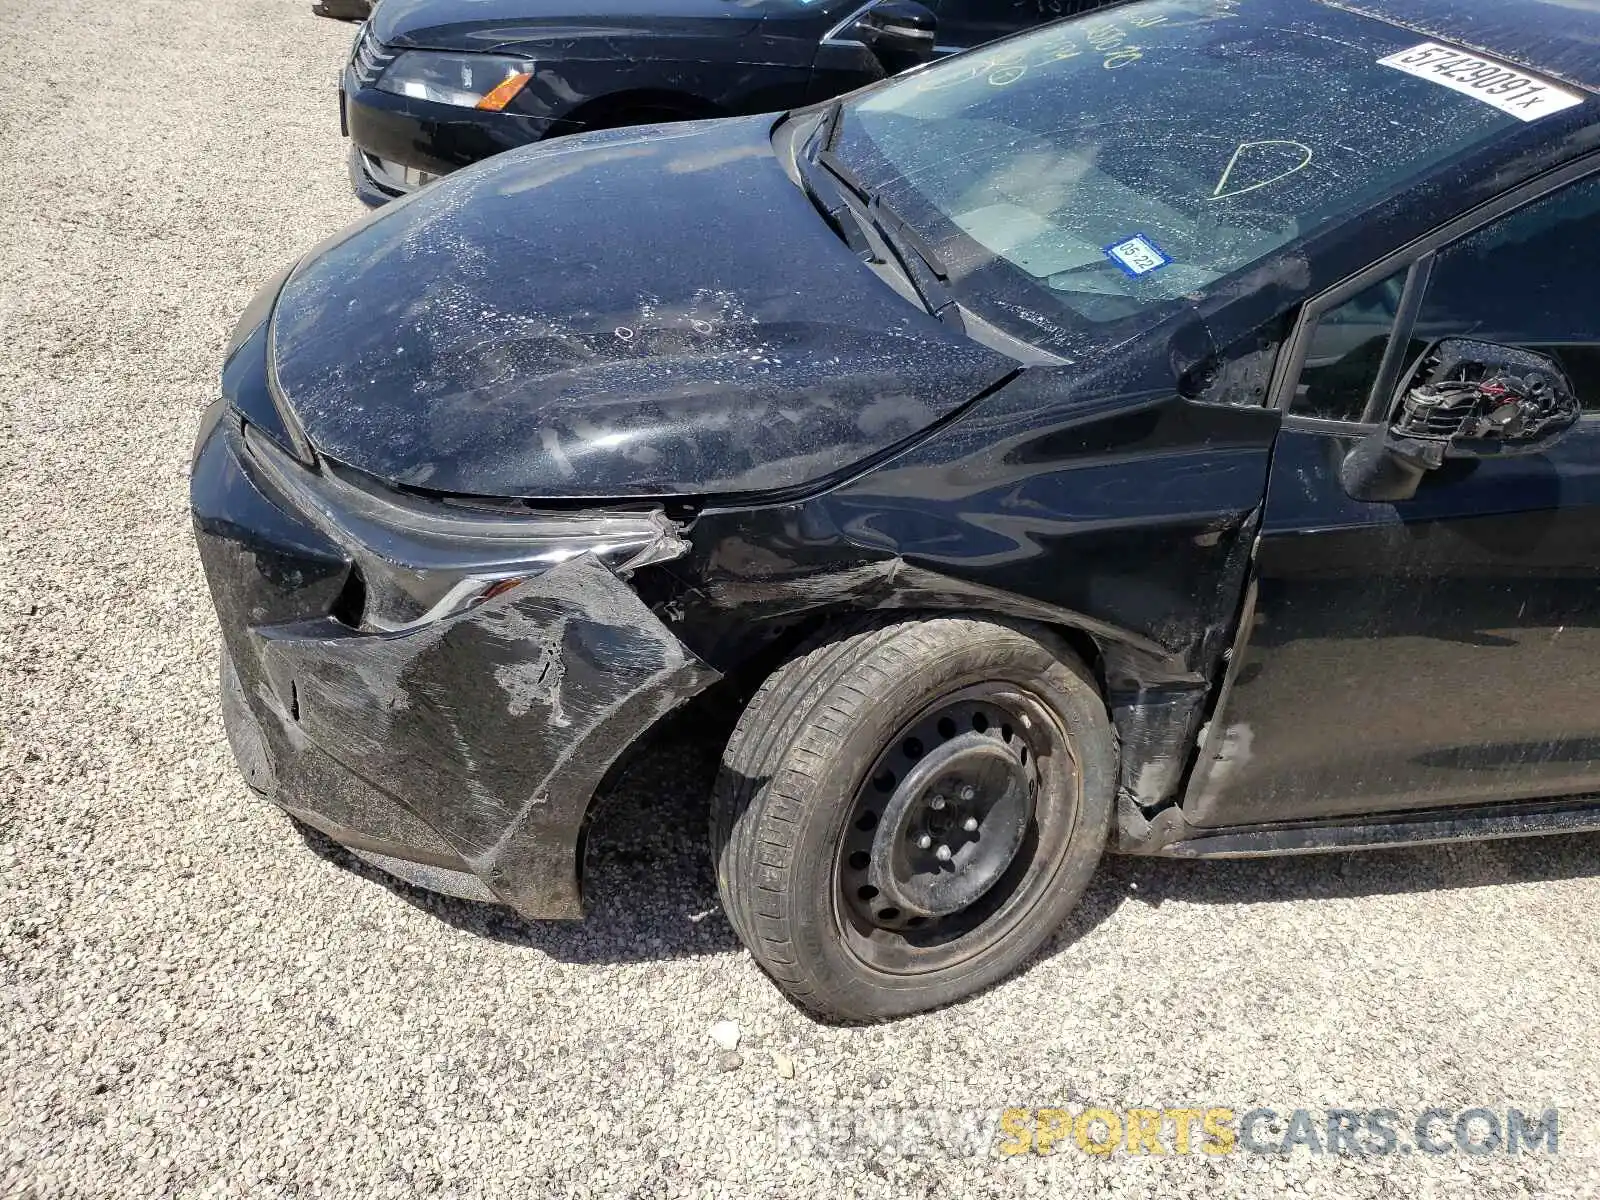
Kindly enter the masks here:
[[394, 485], [707, 496], [829, 477], [1010, 374], [838, 242], [770, 123], [565, 138], [381, 210], [280, 293], [280, 398]]

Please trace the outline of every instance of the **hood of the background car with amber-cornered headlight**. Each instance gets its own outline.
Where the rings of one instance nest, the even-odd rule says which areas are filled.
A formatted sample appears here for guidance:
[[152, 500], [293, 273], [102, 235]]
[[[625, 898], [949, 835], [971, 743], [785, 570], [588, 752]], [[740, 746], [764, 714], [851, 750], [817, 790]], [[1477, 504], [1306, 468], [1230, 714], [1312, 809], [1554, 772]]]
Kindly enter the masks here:
[[586, 34], [742, 37], [760, 24], [739, 0], [382, 0], [371, 29], [389, 46], [494, 50], [526, 38]]

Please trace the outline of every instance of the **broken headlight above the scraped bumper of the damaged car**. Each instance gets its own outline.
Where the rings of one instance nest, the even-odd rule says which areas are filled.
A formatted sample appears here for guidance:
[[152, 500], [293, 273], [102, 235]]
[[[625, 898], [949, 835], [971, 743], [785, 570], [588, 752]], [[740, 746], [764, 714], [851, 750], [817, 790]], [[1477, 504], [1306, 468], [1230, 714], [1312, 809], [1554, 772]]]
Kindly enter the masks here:
[[410, 496], [326, 461], [302, 467], [248, 424], [243, 443], [261, 482], [355, 560], [358, 594], [336, 614], [373, 632], [458, 616], [586, 554], [624, 574], [688, 550], [661, 509], [517, 512]]

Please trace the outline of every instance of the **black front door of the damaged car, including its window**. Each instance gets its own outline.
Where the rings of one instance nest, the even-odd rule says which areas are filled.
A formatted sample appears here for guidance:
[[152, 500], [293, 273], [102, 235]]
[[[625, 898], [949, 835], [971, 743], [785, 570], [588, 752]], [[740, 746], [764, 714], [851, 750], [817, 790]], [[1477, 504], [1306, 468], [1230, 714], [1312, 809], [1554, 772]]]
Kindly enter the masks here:
[[[1192, 824], [1600, 789], [1600, 179], [1496, 208], [1307, 306]], [[1542, 453], [1352, 499], [1346, 453], [1446, 336], [1555, 357], [1584, 416]]]

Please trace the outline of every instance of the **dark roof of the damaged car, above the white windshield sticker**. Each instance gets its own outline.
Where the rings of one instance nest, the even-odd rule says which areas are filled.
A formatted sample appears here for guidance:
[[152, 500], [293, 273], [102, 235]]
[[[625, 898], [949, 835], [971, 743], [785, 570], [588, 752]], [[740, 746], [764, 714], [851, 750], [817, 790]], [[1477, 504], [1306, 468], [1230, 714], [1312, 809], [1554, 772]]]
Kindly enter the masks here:
[[1600, 0], [1323, 0], [1600, 91]]

